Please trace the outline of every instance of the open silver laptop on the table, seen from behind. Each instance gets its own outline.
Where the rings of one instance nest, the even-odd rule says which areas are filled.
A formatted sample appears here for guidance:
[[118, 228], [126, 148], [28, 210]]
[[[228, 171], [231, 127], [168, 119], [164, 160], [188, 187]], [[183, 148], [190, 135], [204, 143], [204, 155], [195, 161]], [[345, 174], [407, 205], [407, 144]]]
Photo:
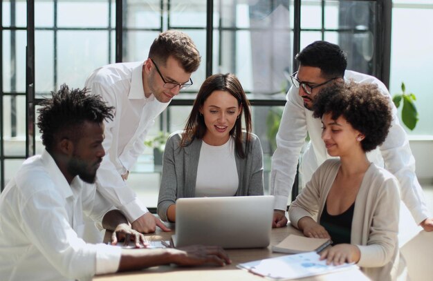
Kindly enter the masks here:
[[270, 243], [273, 196], [179, 198], [174, 246], [261, 248]]

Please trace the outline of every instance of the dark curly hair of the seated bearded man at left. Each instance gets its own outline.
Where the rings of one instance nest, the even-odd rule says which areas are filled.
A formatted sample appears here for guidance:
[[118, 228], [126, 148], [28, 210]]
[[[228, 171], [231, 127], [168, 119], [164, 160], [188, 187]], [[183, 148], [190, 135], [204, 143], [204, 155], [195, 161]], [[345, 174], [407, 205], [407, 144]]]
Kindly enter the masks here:
[[69, 90], [63, 84], [57, 93], [51, 92], [51, 99], [40, 103], [37, 126], [48, 152], [53, 151], [56, 139], [71, 137], [76, 140], [80, 137], [80, 126], [84, 122], [102, 123], [104, 119], [113, 119], [113, 106], [106, 106], [100, 96], [86, 93], [85, 88]]

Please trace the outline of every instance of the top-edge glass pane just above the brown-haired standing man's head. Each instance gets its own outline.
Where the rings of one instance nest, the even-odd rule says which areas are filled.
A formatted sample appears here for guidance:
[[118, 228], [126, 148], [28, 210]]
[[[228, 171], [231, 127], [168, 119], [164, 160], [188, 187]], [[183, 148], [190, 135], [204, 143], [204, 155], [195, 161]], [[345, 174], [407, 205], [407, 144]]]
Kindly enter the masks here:
[[[194, 19], [194, 20], [191, 20]], [[170, 28], [206, 27], [206, 1], [203, 0], [172, 0], [169, 13]]]

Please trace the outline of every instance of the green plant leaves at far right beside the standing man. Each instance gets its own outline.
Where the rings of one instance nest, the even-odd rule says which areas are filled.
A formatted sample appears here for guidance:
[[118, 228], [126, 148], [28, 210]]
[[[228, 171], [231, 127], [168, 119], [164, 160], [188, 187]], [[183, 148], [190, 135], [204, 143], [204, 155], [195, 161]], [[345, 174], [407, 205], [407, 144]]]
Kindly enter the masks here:
[[400, 104], [403, 101], [401, 120], [409, 130], [414, 130], [416, 123], [418, 122], [418, 110], [416, 110], [414, 103], [416, 97], [414, 93], [406, 93], [406, 87], [403, 82], [401, 83], [401, 91], [402, 93], [398, 93], [392, 97], [392, 101], [396, 105], [396, 108], [400, 107]]

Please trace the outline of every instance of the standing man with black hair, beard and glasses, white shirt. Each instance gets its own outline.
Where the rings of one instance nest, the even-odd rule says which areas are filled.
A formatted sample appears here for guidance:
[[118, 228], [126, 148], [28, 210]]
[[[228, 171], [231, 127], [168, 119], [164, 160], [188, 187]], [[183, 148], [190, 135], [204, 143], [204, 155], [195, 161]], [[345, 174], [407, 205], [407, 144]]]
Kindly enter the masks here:
[[[346, 70], [347, 56], [337, 45], [315, 41], [306, 46], [295, 59], [300, 66], [291, 75], [293, 86], [288, 90], [286, 106], [277, 133], [277, 150], [272, 158], [270, 192], [275, 195], [273, 227], [287, 223], [285, 217], [288, 196], [295, 180], [298, 159], [308, 133], [310, 142], [304, 147], [300, 161], [302, 186], [314, 171], [330, 156], [321, 139], [322, 124], [313, 117], [313, 101], [320, 90], [333, 83], [353, 80], [377, 84], [383, 95], [389, 95], [386, 86], [375, 77]], [[393, 121], [385, 142], [367, 153], [370, 162], [384, 166], [400, 182], [401, 197], [417, 224], [433, 231], [433, 219], [425, 204], [423, 190], [415, 175], [415, 160], [405, 130], [400, 126], [397, 110], [392, 104]], [[295, 198], [293, 198], [294, 200]]]

